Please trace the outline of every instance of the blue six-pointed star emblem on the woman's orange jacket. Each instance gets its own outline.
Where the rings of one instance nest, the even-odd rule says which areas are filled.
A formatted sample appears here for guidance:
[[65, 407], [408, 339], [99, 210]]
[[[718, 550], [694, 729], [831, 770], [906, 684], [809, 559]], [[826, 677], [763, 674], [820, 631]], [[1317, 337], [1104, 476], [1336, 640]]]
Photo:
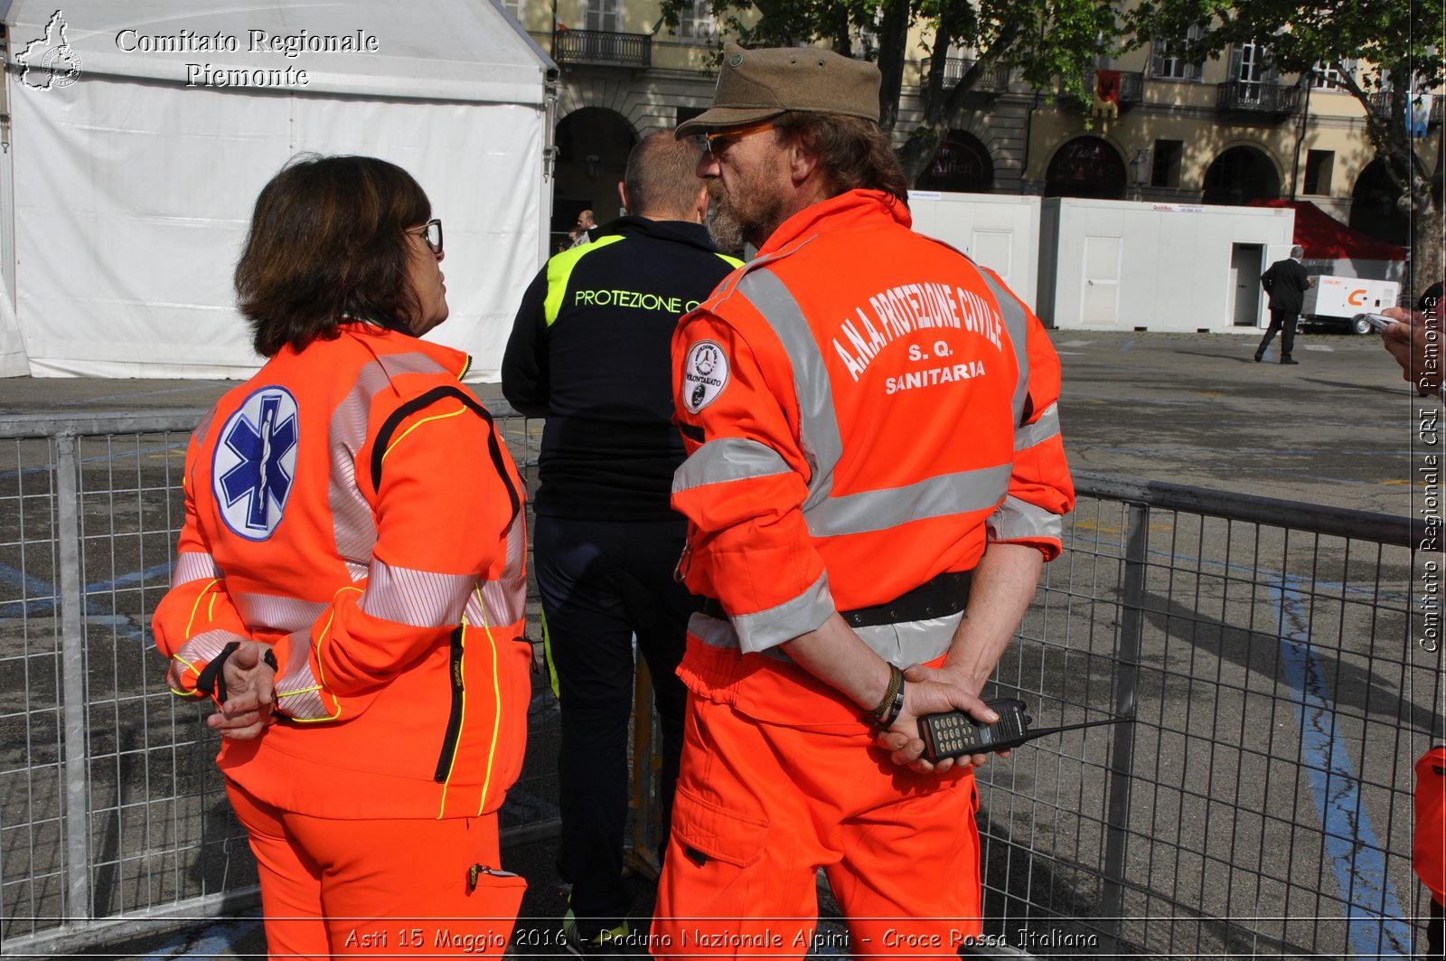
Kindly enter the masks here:
[[221, 426], [211, 485], [226, 525], [266, 540], [296, 480], [296, 398], [282, 386], [252, 394]]

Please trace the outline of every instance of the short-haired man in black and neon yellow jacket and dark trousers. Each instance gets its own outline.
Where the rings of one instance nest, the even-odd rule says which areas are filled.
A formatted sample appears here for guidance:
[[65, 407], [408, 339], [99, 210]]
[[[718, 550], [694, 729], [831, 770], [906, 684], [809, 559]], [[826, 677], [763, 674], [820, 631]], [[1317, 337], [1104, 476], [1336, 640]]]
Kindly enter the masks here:
[[675, 670], [700, 599], [672, 577], [687, 528], [668, 505], [684, 459], [669, 344], [678, 317], [740, 266], [703, 226], [700, 155], [671, 130], [633, 148], [619, 184], [628, 216], [548, 261], [502, 359], [503, 395], [547, 417], [534, 570], [562, 705], [558, 867], [573, 884], [564, 935], [577, 954], [632, 941], [622, 855], [633, 635], [662, 719], [665, 829], [683, 750], [687, 695]]

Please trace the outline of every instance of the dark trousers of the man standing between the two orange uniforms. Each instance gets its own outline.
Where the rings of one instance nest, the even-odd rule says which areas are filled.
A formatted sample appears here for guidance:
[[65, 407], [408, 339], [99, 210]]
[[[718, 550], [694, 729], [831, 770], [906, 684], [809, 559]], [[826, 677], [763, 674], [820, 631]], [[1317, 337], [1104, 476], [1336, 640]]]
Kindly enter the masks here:
[[584, 938], [620, 925], [632, 902], [622, 870], [633, 635], [648, 660], [662, 719], [658, 790], [667, 841], [687, 706], [677, 669], [688, 618], [701, 605], [672, 579], [684, 535], [683, 518], [536, 518], [534, 567], [548, 664], [562, 705], [558, 868], [573, 884], [570, 903]]

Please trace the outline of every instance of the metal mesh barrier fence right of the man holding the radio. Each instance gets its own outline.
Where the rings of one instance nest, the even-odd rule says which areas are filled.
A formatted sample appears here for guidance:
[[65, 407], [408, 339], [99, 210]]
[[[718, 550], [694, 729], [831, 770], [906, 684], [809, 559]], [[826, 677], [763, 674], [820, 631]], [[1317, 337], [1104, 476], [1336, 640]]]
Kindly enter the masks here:
[[[1413, 763], [1440, 740], [1406, 520], [1079, 475], [995, 680], [985, 916], [1051, 957], [1411, 957]], [[1434, 645], [1433, 645], [1434, 647]]]

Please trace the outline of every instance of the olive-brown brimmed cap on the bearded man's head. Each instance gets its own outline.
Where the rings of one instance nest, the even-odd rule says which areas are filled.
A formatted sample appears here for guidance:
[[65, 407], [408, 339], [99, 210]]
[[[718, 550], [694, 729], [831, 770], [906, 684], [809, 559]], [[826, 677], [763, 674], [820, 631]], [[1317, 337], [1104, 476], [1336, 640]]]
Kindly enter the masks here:
[[879, 68], [807, 46], [723, 49], [713, 107], [678, 124], [677, 137], [762, 123], [790, 110], [879, 120]]

